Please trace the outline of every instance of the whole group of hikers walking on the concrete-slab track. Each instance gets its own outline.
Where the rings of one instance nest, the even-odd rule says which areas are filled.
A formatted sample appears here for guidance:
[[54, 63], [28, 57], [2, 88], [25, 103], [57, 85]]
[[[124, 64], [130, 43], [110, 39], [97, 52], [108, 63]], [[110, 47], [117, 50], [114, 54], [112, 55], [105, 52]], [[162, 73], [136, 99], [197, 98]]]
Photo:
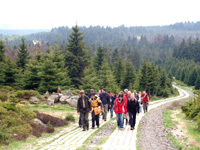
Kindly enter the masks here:
[[[146, 91], [143, 93], [140, 91], [137, 93], [134, 90], [133, 93], [128, 89], [124, 92], [120, 91], [113, 95], [113, 93], [107, 93], [106, 89], [98, 90], [95, 93], [94, 89], [91, 89], [90, 94], [86, 96], [85, 91], [80, 91], [80, 98], [77, 103], [77, 112], [79, 117], [79, 127], [83, 128], [83, 131], [89, 130], [89, 113], [92, 116], [92, 129], [99, 128], [100, 114], [103, 116], [103, 120], [107, 120], [107, 113], [110, 111], [110, 118], [113, 118], [113, 111], [117, 116], [117, 125], [120, 130], [124, 129], [124, 124], [130, 125], [131, 130], [135, 129], [136, 115], [143, 111], [148, 111], [149, 96]], [[126, 123], [124, 122], [126, 120]]]

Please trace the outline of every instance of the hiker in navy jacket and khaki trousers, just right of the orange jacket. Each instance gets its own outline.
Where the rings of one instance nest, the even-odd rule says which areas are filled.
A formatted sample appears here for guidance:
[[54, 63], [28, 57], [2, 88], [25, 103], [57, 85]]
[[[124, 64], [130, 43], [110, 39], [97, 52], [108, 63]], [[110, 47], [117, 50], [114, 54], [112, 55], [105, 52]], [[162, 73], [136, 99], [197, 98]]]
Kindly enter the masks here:
[[107, 112], [108, 112], [108, 107], [110, 107], [110, 96], [108, 93], [106, 93], [106, 89], [103, 88], [102, 89], [102, 93], [100, 94], [100, 100], [102, 101], [103, 104], [103, 120], [106, 121], [107, 120]]

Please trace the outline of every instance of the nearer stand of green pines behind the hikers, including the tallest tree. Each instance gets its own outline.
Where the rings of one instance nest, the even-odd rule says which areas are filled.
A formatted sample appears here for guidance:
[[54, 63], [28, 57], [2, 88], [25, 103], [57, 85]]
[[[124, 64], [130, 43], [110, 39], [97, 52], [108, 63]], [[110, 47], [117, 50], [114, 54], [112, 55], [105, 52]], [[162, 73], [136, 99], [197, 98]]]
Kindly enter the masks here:
[[137, 51], [123, 55], [122, 50], [99, 45], [96, 52], [86, 48], [78, 26], [72, 28], [65, 47], [54, 43], [46, 52], [29, 54], [25, 39], [21, 40], [16, 61], [5, 56], [4, 42], [0, 42], [0, 84], [19, 89], [34, 89], [40, 93], [62, 89], [105, 87], [108, 91], [147, 90], [150, 95], [168, 97], [174, 94], [172, 76], [164, 68], [143, 62]]

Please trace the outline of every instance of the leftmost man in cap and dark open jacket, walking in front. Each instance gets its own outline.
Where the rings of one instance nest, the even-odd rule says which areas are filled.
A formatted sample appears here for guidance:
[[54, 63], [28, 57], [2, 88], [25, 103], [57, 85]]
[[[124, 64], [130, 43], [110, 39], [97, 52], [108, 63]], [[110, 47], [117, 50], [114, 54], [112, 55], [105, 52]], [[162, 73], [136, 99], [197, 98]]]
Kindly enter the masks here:
[[83, 131], [89, 130], [88, 114], [91, 113], [89, 98], [85, 96], [85, 91], [80, 91], [81, 97], [78, 99], [77, 112], [80, 115]]

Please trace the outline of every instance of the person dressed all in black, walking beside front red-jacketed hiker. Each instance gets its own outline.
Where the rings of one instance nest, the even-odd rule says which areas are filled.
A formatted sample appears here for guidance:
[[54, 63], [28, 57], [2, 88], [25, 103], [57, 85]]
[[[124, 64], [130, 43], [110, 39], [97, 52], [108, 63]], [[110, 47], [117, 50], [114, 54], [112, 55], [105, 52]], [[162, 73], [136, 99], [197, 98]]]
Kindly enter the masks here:
[[139, 103], [135, 98], [135, 94], [131, 94], [131, 99], [127, 103], [127, 111], [129, 114], [129, 124], [131, 126], [131, 130], [135, 129], [136, 123], [136, 114], [139, 114]]

